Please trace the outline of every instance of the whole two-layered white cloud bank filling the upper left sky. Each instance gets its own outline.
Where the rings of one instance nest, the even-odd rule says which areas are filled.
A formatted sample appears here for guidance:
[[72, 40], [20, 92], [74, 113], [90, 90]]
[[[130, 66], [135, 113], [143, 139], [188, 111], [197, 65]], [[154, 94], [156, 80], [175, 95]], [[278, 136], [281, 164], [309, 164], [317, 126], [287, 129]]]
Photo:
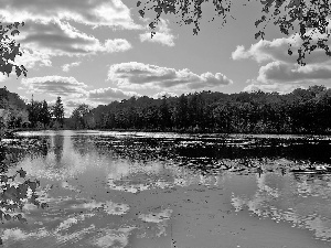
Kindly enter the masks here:
[[[28, 68], [51, 66], [54, 56], [77, 56], [96, 53], [125, 52], [131, 44], [124, 39], [99, 41], [79, 31], [107, 26], [142, 30], [131, 19], [130, 10], [121, 0], [0, 0], [0, 20], [25, 22], [17, 40], [25, 52], [18, 64]], [[84, 29], [84, 30], [87, 30]]]

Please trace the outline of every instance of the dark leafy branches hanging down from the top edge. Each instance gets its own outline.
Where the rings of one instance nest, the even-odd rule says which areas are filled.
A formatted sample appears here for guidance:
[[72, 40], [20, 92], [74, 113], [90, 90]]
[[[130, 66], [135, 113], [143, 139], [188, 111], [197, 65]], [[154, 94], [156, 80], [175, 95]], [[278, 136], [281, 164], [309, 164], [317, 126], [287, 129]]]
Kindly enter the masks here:
[[[163, 14], [172, 13], [179, 18], [180, 24], [194, 24], [193, 34], [200, 31], [203, 6], [211, 3], [214, 6], [215, 15], [222, 18], [224, 25], [231, 14], [233, 2], [237, 0], [148, 0], [145, 4], [137, 2], [139, 13], [145, 18], [146, 12], [154, 12], [154, 18], [150, 22], [151, 35], [156, 34], [156, 28]], [[247, 0], [247, 3], [249, 0]], [[306, 65], [305, 56], [316, 50], [324, 50], [328, 56], [331, 51], [328, 45], [331, 35], [329, 18], [331, 14], [331, 3], [327, 0], [259, 0], [263, 6], [261, 15], [256, 20], [258, 28], [255, 39], [264, 39], [268, 24], [279, 28], [279, 31], [289, 36], [297, 34], [301, 39], [298, 48], [298, 64]], [[213, 20], [215, 17], [213, 18]], [[289, 44], [288, 54], [292, 55]]]

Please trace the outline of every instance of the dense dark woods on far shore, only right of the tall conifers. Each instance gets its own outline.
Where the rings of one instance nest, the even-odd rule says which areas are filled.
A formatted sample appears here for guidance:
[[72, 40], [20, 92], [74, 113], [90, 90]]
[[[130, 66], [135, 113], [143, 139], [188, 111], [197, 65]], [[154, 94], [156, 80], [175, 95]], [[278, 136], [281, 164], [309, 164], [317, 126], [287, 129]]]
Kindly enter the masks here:
[[202, 91], [162, 99], [143, 96], [98, 106], [90, 115], [102, 129], [330, 133], [331, 89], [311, 86], [286, 95]]

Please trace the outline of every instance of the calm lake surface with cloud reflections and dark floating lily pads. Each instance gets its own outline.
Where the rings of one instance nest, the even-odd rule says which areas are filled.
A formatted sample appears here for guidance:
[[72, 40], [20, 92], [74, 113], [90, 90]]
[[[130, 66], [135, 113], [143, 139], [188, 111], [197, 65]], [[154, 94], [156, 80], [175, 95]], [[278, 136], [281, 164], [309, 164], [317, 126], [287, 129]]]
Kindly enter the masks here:
[[4, 222], [4, 247], [248, 247], [258, 234], [244, 220], [331, 246], [331, 175], [290, 172], [331, 164], [328, 137], [20, 134], [43, 147], [17, 149], [12, 169], [40, 180], [49, 207], [26, 204], [28, 224]]

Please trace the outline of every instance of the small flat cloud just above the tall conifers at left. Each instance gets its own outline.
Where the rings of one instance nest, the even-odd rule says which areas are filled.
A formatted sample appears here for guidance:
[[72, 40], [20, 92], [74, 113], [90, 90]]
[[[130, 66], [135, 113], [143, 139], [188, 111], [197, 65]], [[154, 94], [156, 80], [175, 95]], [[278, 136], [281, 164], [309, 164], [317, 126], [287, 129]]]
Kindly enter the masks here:
[[29, 93], [50, 94], [53, 96], [78, 97], [86, 95], [84, 83], [77, 82], [74, 77], [44, 76], [23, 78], [22, 85]]

